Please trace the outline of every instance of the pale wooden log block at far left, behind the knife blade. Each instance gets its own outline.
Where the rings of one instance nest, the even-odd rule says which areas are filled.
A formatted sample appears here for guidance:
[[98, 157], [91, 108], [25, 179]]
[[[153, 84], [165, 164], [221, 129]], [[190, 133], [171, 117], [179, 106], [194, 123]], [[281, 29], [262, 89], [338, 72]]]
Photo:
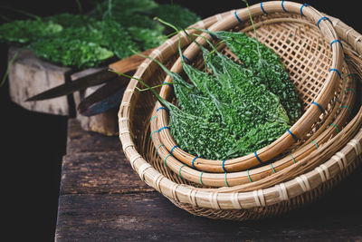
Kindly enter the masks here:
[[34, 102], [25, 102], [25, 100], [63, 84], [71, 68], [43, 61], [28, 49], [20, 51], [11, 64], [10, 60], [18, 51], [18, 48], [11, 47], [8, 52], [9, 93], [12, 101], [29, 111], [69, 115], [70, 108], [66, 96]]

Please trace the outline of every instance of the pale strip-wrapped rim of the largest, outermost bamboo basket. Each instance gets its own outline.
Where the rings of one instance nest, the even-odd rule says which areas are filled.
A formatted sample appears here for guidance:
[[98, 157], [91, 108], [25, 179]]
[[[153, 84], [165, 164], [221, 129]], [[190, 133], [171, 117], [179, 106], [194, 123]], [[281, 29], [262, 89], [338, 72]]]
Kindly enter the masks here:
[[[231, 11], [231, 13], [233, 14], [233, 11]], [[225, 12], [224, 14], [227, 15], [228, 12]], [[217, 18], [223, 17], [223, 15], [221, 15], [221, 14], [216, 15], [216, 16], [210, 17], [210, 18], [208, 18], [208, 20], [215, 21]], [[357, 51], [357, 53], [362, 53], [362, 44], [358, 43], [356, 41], [357, 39], [360, 39], [360, 37], [362, 35], [358, 34], [351, 27], [349, 27], [347, 24], [344, 24], [340, 20], [333, 18], [333, 17], [330, 17], [330, 18], [332, 18], [332, 23], [338, 28], [338, 33], [341, 36], [342, 40], [346, 41], [349, 44], [354, 44], [355, 50]], [[195, 26], [197, 26], [197, 27], [200, 27], [200, 25], [205, 26], [205, 23], [203, 21], [201, 21], [198, 24], [195, 24]], [[348, 31], [348, 33], [347, 33], [345, 31], [345, 29], [347, 27], [349, 29], [352, 29], [352, 31]], [[345, 35], [343, 35], [343, 34], [345, 34]], [[174, 44], [174, 45], [172, 45], [172, 43], [163, 44], [159, 48], [165, 48], [167, 46], [175, 47], [176, 44]], [[157, 48], [152, 54], [153, 54], [153, 57], [157, 58], [157, 55], [159, 54], [159, 49]], [[146, 60], [144, 63], [147, 64], [148, 62], [149, 61]], [[141, 64], [141, 66], [138, 68], [138, 71], [135, 74], [135, 76], [141, 77], [142, 74], [144, 74], [146, 72], [147, 72], [147, 69], [145, 68], [145, 64]], [[134, 96], [133, 92], [135, 92], [135, 87], [136, 87], [137, 83], [138, 83], [138, 81], [135, 79], [133, 79], [133, 80], [131, 80], [131, 82], [129, 82], [129, 86], [128, 86], [128, 88], [125, 92], [125, 95], [123, 96], [122, 102], [119, 106], [119, 140], [122, 143], [123, 151], [124, 151], [127, 159], [129, 160], [132, 168], [135, 169], [136, 172], [138, 172], [138, 175], [140, 176], [140, 178], [145, 180], [150, 187], [157, 189], [160, 193], [165, 195], [167, 198], [173, 198], [173, 199], [176, 199], [176, 200], [186, 203], [186, 204], [195, 204], [195, 202], [193, 202], [193, 201], [200, 199], [199, 198], [200, 193], [196, 192], [195, 188], [192, 188], [192, 187], [190, 188], [189, 186], [180, 185], [180, 184], [177, 184], [177, 183], [171, 181], [170, 179], [167, 179], [163, 174], [159, 173], [156, 169], [154, 169], [148, 163], [148, 161], [145, 160], [138, 153], [138, 150], [136, 149], [136, 145], [134, 144], [132, 137], [131, 137], [131, 131], [130, 131], [130, 127], [129, 127], [129, 121], [130, 121], [129, 115], [131, 113], [132, 97]], [[355, 150], [355, 152], [353, 152], [353, 154], [352, 154], [352, 157], [349, 157], [350, 160], [354, 160], [361, 153], [360, 140], [357, 140], [358, 135], [361, 132], [362, 131], [359, 131], [358, 134], [354, 137], [353, 140], [355, 140], [355, 141], [352, 142], [353, 144], [346, 145], [344, 148], [344, 149], [348, 149], [347, 151]], [[350, 160], [346, 159], [348, 153], [346, 152], [346, 150], [341, 150], [340, 152], [345, 153], [346, 155], [338, 157], [338, 158], [334, 158], [333, 159], [335, 161], [334, 163], [348, 165], [348, 161], [350, 161]], [[331, 162], [333, 162], [333, 160], [331, 159], [327, 162], [331, 163]], [[338, 160], [338, 161], [336, 161], [336, 160]], [[327, 167], [327, 162], [325, 162], [322, 165], [325, 165]], [[318, 185], [325, 182], [325, 181], [323, 181], [323, 178], [320, 175], [321, 173], [319, 171], [322, 170], [323, 172], [325, 172], [324, 177], [328, 178], [328, 174], [326, 173], [326, 171], [329, 170], [329, 167], [327, 167], [327, 169], [323, 168], [321, 166], [319, 166], [319, 167], [320, 167], [319, 170], [314, 169], [314, 170], [310, 171], [310, 175], [317, 174], [316, 177], [318, 177], [318, 176], [320, 177], [320, 179], [318, 179], [318, 181], [319, 181]], [[329, 173], [329, 175], [330, 175], [330, 173]], [[337, 172], [337, 174], [334, 174], [334, 175], [337, 176], [338, 172]], [[309, 177], [307, 177], [307, 179], [309, 179]], [[331, 179], [331, 176], [329, 176], [329, 179]], [[305, 179], [301, 179], [301, 181], [305, 183]], [[280, 197], [275, 200], [275, 203], [281, 202], [285, 198], [291, 198], [290, 196], [288, 196], [289, 187], [287, 187], [285, 184], [286, 183], [280, 183], [280, 184], [277, 184], [276, 186], [274, 186], [273, 188], [267, 189], [268, 191], [273, 190], [274, 192], [276, 192], [277, 194], [280, 195]], [[301, 184], [301, 183], [297, 182], [297, 184]], [[304, 188], [305, 187], [306, 187], [306, 185], [304, 186]], [[255, 192], [256, 192], [256, 195], [255, 195]], [[304, 191], [302, 189], [300, 189], [298, 192], [293, 193], [293, 196], [296, 197], [303, 193], [304, 193]], [[194, 196], [192, 196], [192, 194], [194, 194]], [[198, 196], [196, 196], [197, 194], [198, 194]], [[205, 194], [206, 196], [201, 198], [201, 200], [203, 202], [197, 202], [196, 205], [198, 207], [201, 207], [201, 208], [222, 208], [223, 207], [224, 208], [224, 206], [220, 206], [222, 204], [221, 202], [227, 201], [229, 206], [230, 206], [230, 202], [232, 203], [232, 206], [227, 207], [227, 208], [234, 208], [234, 209], [242, 208], [241, 204], [243, 204], [243, 208], [260, 207], [260, 205], [262, 205], [260, 198], [262, 198], [262, 195], [263, 196], [265, 195], [264, 192], [258, 192], [257, 190], [254, 190], [253, 192], [246, 192], [245, 196], [252, 198], [252, 200], [253, 200], [246, 204], [246, 203], [241, 203], [240, 194], [243, 194], [241, 192], [229, 193], [229, 194], [233, 194], [233, 195], [231, 197], [228, 196], [227, 198], [223, 197], [223, 199], [221, 197], [218, 198], [218, 195], [215, 192], [203, 191], [203, 194]], [[227, 193], [219, 193], [219, 194], [227, 195]], [[197, 199], [196, 199], [196, 197], [197, 197]], [[265, 196], [264, 196], [264, 198], [265, 198]], [[258, 200], [259, 202], [256, 202], [256, 200]], [[265, 205], [268, 206], [270, 204], [266, 203]]]

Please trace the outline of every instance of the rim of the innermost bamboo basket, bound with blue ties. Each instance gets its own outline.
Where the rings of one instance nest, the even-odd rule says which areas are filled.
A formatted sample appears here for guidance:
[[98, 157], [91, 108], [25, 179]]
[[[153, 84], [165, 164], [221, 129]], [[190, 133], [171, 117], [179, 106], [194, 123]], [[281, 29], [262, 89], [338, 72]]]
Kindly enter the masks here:
[[[262, 7], [261, 7], [262, 6]], [[256, 15], [265, 15], [267, 13], [285, 13], [285, 9], [288, 10], [289, 14], [300, 14], [300, 9], [303, 9], [303, 15], [309, 18], [315, 24], [318, 24], [319, 29], [321, 32], [327, 32], [324, 34], [326, 43], [331, 43], [332, 41], [338, 39], [338, 35], [334, 30], [332, 24], [328, 21], [319, 21], [324, 16], [319, 13], [318, 10], [310, 7], [310, 5], [300, 5], [298, 3], [293, 2], [284, 2], [283, 8], [281, 7], [280, 1], [272, 1], [272, 2], [265, 2], [262, 5], [251, 5], [250, 11], [252, 16]], [[307, 10], [308, 9], [308, 10]], [[233, 15], [229, 15], [222, 21], [219, 21], [208, 28], [209, 31], [217, 31], [223, 29], [229, 29], [233, 27], [235, 24], [240, 24], [240, 19], [244, 19], [248, 17], [248, 9], [243, 8], [240, 10], [236, 10]], [[235, 18], [238, 16], [238, 18]], [[210, 34], [201, 34], [205, 38], [211, 39], [212, 36]], [[196, 39], [196, 42], [199, 44], [205, 44], [205, 40], [201, 37]], [[332, 63], [330, 66], [330, 70], [341, 70], [342, 68], [342, 58], [343, 58], [343, 51], [341, 49], [340, 44], [332, 44], [330, 45], [332, 50]], [[187, 56], [188, 60], [192, 60], [195, 57], [196, 51], [198, 51], [198, 47], [196, 44], [190, 44], [186, 50], [184, 51], [183, 55]], [[179, 73], [181, 69], [181, 58], [179, 57], [174, 65], [171, 68], [171, 71]], [[331, 100], [332, 93], [337, 87], [337, 83], [339, 82], [337, 72], [329, 72], [329, 75], [326, 78], [326, 81], [323, 84], [323, 88], [320, 90], [319, 95], [314, 100], [315, 103], [318, 105], [310, 105], [310, 108], [305, 111], [300, 119], [296, 121], [289, 131], [285, 131], [281, 135], [280, 138], [271, 142], [271, 144], [262, 147], [259, 150], [255, 150], [255, 152], [229, 159], [229, 160], [208, 160], [205, 158], [197, 158], [199, 169], [203, 171], [209, 172], [223, 172], [227, 170], [229, 172], [239, 171], [239, 170], [246, 170], [252, 167], [255, 167], [261, 163], [266, 163], [268, 160], [273, 159], [275, 156], [280, 154], [282, 151], [287, 150], [292, 144], [295, 143], [296, 138], [300, 139], [303, 137], [308, 131], [310, 131], [310, 127], [314, 121], [319, 119], [319, 115], [321, 114], [321, 110], [325, 110], [328, 103]], [[165, 82], [170, 82], [170, 77], [167, 76]], [[170, 89], [168, 85], [164, 85], [161, 88], [160, 96], [163, 98], [167, 97], [167, 92]], [[158, 103], [158, 108], [161, 105]], [[160, 110], [159, 115], [157, 115], [158, 121], [158, 128], [167, 126], [167, 111]], [[165, 130], [161, 133], [161, 140], [167, 147], [168, 150], [173, 149], [173, 154], [178, 160], [182, 160], [187, 165], [191, 165], [193, 160], [196, 158], [195, 155], [186, 152], [186, 150], [182, 150], [180, 147], [177, 146], [176, 141], [172, 138], [170, 131]]]

